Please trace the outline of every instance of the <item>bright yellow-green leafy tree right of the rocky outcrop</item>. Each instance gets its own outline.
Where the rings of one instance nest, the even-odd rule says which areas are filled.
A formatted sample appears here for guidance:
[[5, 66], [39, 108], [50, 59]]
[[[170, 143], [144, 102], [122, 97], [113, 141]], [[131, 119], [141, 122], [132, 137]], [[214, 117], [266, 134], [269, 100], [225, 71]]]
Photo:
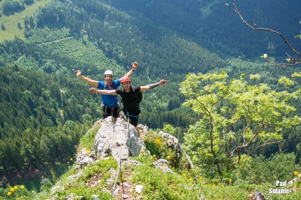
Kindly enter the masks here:
[[298, 116], [288, 117], [295, 111], [289, 100], [298, 98], [301, 91], [290, 91], [290, 87], [300, 76], [281, 77], [279, 83], [285, 89], [273, 91], [260, 83], [260, 74], [251, 74], [249, 81], [245, 74], [232, 80], [227, 80], [225, 72], [188, 74], [180, 84], [187, 98], [184, 105], [202, 114], [185, 135], [188, 153], [203, 166], [210, 168], [214, 163], [221, 178], [224, 168], [235, 169], [254, 150], [279, 144], [281, 130], [301, 122]]

